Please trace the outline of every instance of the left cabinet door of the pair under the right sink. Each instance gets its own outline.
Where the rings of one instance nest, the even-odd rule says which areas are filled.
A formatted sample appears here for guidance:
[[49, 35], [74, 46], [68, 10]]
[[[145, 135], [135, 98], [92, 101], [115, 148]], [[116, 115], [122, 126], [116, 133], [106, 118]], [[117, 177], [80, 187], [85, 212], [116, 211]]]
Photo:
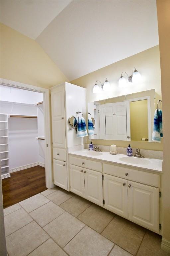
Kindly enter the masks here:
[[104, 174], [105, 208], [128, 218], [127, 180]]

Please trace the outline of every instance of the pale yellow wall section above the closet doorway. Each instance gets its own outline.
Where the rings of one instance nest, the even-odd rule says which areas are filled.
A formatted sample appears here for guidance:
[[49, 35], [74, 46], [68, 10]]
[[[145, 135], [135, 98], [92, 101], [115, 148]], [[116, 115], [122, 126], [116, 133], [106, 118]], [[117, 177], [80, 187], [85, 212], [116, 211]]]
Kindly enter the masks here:
[[33, 39], [1, 24], [1, 78], [43, 88], [68, 81]]

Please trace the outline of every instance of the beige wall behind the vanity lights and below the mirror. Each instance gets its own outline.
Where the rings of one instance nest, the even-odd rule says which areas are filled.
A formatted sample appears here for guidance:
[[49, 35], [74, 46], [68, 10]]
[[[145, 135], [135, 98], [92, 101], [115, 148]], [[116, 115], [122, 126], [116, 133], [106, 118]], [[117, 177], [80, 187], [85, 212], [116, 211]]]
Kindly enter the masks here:
[[[118, 81], [123, 71], [126, 71], [129, 75], [132, 74], [132, 68], [135, 67], [142, 76], [142, 83], [138, 86], [129, 84], [128, 89], [118, 88]], [[112, 92], [93, 94], [93, 86], [96, 80], [100, 80], [102, 83], [105, 78], [108, 78], [112, 86]], [[117, 97], [123, 94], [130, 94], [134, 92], [140, 92], [150, 89], [155, 89], [156, 102], [161, 99], [161, 76], [160, 76], [160, 57], [159, 57], [159, 45], [152, 47], [146, 51], [135, 54], [131, 57], [113, 63], [102, 69], [96, 70], [90, 74], [82, 76], [78, 79], [71, 81], [71, 83], [86, 88], [86, 102], [100, 100], [103, 98]], [[89, 143], [89, 140], [87, 141]], [[99, 145], [111, 145], [116, 144], [119, 147], [127, 147], [127, 141], [113, 141], [113, 140], [93, 140], [93, 143]], [[143, 142], [143, 141], [131, 141], [133, 148], [162, 150], [163, 143]]]

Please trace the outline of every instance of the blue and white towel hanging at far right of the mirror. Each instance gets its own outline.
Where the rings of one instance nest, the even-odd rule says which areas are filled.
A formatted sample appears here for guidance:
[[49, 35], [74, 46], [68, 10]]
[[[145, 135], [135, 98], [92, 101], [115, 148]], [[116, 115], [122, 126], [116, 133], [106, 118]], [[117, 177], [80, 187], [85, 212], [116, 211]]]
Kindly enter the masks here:
[[163, 137], [162, 131], [162, 110], [156, 109], [154, 114], [154, 125], [153, 125], [153, 133], [152, 140], [156, 142], [161, 142], [161, 138]]

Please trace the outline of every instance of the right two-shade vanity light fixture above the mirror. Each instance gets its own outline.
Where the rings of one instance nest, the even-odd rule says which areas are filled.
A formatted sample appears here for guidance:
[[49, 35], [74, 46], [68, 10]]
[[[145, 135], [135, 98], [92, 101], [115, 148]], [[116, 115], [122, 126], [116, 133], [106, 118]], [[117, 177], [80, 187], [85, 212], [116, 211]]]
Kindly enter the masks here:
[[[134, 69], [134, 71], [133, 71]], [[128, 76], [128, 82], [129, 83], [136, 83], [136, 82], [140, 82], [141, 80], [141, 75], [140, 73], [136, 70], [136, 68], [133, 68], [132, 69], [132, 75], [131, 76], [128, 76], [128, 73], [127, 72], [122, 72], [123, 73], [126, 73], [127, 76]], [[119, 79], [119, 88], [124, 88], [127, 86], [127, 81], [125, 79], [125, 77], [121, 74], [121, 77]]]

